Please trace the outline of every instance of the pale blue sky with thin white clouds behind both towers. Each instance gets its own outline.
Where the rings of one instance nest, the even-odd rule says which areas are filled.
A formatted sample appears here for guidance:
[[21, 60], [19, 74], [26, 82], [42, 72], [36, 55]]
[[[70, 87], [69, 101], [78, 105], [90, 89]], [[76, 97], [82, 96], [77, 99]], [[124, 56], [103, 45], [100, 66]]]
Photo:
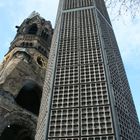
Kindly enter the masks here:
[[[37, 11], [54, 27], [59, 0], [0, 0], [0, 61], [10, 47], [20, 25], [32, 11]], [[140, 120], [140, 15], [115, 18], [110, 10], [112, 25]]]

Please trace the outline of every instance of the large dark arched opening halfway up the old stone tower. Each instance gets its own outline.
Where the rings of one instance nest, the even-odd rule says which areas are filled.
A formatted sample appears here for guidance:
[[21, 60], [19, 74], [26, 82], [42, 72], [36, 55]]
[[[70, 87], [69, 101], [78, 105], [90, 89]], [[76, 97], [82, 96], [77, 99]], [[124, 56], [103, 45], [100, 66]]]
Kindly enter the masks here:
[[16, 102], [22, 108], [38, 115], [42, 89], [34, 82], [27, 82], [16, 97]]

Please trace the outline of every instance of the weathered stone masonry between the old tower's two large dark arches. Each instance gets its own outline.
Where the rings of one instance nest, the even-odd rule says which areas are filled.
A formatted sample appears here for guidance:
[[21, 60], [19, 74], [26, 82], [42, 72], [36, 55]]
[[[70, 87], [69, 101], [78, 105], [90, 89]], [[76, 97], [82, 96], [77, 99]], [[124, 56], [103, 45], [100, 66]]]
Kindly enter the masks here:
[[6, 92], [0, 91], [0, 136], [2, 132], [10, 125], [19, 125], [25, 127], [31, 133], [33, 138], [35, 135], [37, 117], [18, 106], [12, 96], [8, 96]]

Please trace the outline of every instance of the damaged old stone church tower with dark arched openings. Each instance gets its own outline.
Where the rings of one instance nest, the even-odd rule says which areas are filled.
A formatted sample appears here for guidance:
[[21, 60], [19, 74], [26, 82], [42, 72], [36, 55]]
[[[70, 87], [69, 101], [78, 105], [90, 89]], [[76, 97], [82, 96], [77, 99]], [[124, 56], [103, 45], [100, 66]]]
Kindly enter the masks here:
[[0, 66], [0, 140], [34, 140], [52, 26], [33, 12]]

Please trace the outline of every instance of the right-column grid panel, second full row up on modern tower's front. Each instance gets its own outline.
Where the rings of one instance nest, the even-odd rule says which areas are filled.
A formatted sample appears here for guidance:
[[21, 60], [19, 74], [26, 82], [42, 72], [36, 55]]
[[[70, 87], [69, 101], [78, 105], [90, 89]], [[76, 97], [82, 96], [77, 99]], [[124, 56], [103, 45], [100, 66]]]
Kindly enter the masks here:
[[105, 82], [81, 84], [81, 106], [108, 105], [109, 97]]

